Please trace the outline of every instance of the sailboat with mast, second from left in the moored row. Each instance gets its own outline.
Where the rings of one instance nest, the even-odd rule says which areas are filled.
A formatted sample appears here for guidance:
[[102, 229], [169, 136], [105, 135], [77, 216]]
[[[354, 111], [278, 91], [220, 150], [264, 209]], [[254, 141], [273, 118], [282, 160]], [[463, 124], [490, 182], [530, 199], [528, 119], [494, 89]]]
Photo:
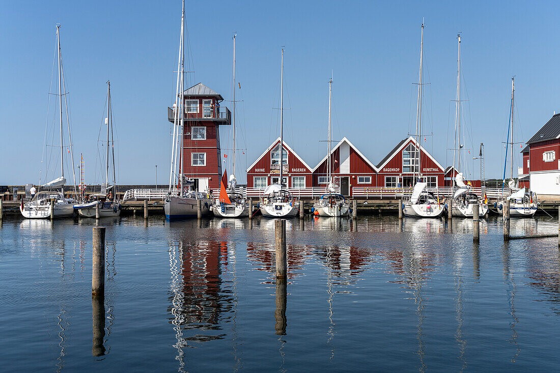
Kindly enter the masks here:
[[[115, 140], [113, 138], [113, 106], [111, 105], [111, 83], [107, 82], [107, 126], [106, 141], [106, 165], [105, 165], [105, 184], [101, 193], [92, 194], [91, 201], [74, 205], [78, 214], [83, 217], [96, 217], [96, 209], [99, 204], [100, 217], [115, 217], [120, 215], [120, 202], [116, 196], [115, 184]], [[112, 161], [112, 162], [111, 162]], [[109, 186], [110, 165], [113, 164], [113, 185]]]

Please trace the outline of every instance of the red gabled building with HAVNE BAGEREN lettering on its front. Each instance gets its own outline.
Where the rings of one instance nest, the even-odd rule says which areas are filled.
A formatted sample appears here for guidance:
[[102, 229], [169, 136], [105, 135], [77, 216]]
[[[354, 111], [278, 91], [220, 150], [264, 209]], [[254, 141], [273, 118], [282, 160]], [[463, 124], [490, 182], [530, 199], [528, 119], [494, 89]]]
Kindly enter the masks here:
[[[312, 185], [312, 169], [284, 141], [282, 183], [297, 192]], [[278, 137], [267, 150], [247, 169], [247, 188], [264, 190], [268, 185], [279, 184], [280, 179], [280, 138]]]

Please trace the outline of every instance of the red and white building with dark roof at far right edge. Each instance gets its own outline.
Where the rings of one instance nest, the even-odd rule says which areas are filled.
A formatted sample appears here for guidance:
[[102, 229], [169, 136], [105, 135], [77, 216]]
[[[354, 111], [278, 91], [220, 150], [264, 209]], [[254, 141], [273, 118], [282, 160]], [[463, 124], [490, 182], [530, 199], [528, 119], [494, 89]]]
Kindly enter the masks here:
[[560, 113], [554, 114], [527, 144], [528, 151], [526, 148], [521, 151], [522, 175], [529, 175], [531, 190], [537, 194], [560, 195], [560, 160], [556, 157], [560, 157]]

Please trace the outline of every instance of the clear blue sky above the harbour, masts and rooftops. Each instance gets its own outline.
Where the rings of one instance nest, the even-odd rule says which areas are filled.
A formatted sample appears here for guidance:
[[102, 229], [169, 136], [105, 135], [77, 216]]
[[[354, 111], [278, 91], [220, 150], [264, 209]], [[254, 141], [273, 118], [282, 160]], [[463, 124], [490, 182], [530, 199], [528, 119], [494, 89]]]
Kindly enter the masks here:
[[[0, 185], [37, 183], [41, 169], [55, 24], [71, 97], [74, 153], [94, 179], [97, 137], [111, 80], [118, 128], [118, 181], [169, 178], [169, 123], [175, 93], [181, 2], [4, 2], [0, 13]], [[501, 178], [511, 77], [517, 137], [526, 141], [560, 110], [555, 2], [187, 2], [193, 83], [231, 99], [232, 34], [237, 32], [238, 147], [244, 170], [278, 136], [279, 65], [285, 45], [285, 138], [314, 166], [325, 154], [328, 80], [333, 138], [348, 137], [374, 164], [413, 130], [420, 25], [426, 20], [426, 146], [449, 165], [456, 89], [456, 35], [462, 32], [464, 102], [472, 141], [486, 146], [486, 176]], [[54, 87], [54, 86], [53, 86]], [[465, 95], [466, 96], [466, 95]], [[466, 98], [466, 97], [464, 97]], [[230, 103], [226, 103], [231, 106]], [[449, 137], [449, 139], [448, 139]], [[221, 129], [222, 147], [230, 133]], [[515, 148], [516, 157], [519, 145]], [[229, 159], [229, 158], [228, 158]], [[469, 166], [478, 178], [478, 163]], [[97, 161], [99, 164], [99, 161]], [[517, 160], [517, 165], [521, 162]], [[89, 173], [87, 173], [89, 171]], [[244, 181], [244, 172], [237, 172]]]

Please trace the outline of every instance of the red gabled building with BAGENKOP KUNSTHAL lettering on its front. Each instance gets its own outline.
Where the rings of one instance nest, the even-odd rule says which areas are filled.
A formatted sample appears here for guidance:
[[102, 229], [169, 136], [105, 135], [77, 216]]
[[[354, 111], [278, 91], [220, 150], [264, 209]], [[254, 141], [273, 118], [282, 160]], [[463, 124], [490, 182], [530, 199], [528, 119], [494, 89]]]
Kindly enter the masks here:
[[[419, 164], [416, 164], [418, 159]], [[377, 186], [410, 187], [414, 184], [415, 172], [429, 187], [444, 186], [444, 167], [425, 148], [419, 147], [412, 136], [399, 142], [376, 167]]]

